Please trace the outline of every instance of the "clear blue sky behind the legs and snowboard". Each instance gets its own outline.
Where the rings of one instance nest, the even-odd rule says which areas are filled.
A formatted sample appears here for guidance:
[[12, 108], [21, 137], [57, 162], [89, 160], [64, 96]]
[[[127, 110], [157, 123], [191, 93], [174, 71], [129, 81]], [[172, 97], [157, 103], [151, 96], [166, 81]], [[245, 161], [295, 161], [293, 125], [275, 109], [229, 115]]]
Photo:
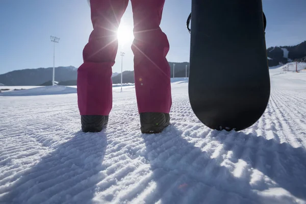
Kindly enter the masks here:
[[[190, 2], [166, 0], [161, 28], [170, 42], [168, 61], [189, 61], [190, 35], [185, 23], [191, 11]], [[305, 8], [305, 0], [263, 0], [268, 21], [267, 47], [295, 45], [306, 40]], [[50, 35], [60, 37], [56, 45], [56, 66], [82, 64], [82, 50], [92, 31], [86, 0], [1, 0], [0, 19], [0, 74], [52, 67]], [[132, 34], [131, 3], [122, 17], [122, 25]], [[131, 42], [127, 42], [119, 46], [113, 72], [121, 71], [120, 52], [125, 53], [123, 69], [133, 70]]]

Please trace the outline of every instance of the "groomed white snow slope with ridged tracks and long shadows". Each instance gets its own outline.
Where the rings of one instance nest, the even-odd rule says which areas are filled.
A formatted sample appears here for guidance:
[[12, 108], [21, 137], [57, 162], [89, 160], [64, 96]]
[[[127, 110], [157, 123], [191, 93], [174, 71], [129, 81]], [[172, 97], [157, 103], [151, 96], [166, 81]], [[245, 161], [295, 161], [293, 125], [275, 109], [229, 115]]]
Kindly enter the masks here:
[[306, 203], [306, 72], [270, 75], [241, 132], [203, 125], [186, 79], [156, 135], [140, 133], [133, 86], [113, 88], [100, 133], [80, 131], [76, 93], [0, 96], [0, 203]]

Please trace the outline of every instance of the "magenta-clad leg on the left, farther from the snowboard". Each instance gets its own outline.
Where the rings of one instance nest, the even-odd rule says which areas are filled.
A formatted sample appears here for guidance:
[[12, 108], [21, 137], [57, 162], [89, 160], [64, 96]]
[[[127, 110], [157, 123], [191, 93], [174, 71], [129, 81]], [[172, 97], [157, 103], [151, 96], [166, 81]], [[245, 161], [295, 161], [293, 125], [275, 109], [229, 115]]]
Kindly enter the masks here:
[[[93, 31], [78, 69], [78, 106], [81, 116], [108, 116], [112, 109], [112, 66], [118, 49], [117, 29], [129, 0], [90, 0]], [[84, 117], [85, 118], [85, 117]], [[83, 119], [83, 118], [82, 118]], [[94, 123], [90, 118], [83, 123]], [[99, 123], [99, 121], [97, 121]], [[100, 122], [101, 123], [101, 122]]]

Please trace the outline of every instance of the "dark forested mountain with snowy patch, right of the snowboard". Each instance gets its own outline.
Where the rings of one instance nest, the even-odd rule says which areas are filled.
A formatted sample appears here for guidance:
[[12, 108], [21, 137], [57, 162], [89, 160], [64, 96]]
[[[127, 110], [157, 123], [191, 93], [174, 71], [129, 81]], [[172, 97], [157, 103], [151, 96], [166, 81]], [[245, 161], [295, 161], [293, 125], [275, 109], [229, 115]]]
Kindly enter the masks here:
[[269, 67], [286, 64], [306, 56], [306, 41], [295, 46], [276, 46], [267, 49]]

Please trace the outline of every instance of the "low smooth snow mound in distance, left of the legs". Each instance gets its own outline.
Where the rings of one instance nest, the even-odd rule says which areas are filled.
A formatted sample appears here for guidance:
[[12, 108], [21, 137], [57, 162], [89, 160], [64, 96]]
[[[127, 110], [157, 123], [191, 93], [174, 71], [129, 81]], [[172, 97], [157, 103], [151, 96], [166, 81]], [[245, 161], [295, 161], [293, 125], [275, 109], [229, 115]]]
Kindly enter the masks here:
[[57, 95], [68, 93], [77, 93], [77, 89], [66, 86], [44, 86], [27, 90], [8, 91], [0, 93], [0, 96]]

